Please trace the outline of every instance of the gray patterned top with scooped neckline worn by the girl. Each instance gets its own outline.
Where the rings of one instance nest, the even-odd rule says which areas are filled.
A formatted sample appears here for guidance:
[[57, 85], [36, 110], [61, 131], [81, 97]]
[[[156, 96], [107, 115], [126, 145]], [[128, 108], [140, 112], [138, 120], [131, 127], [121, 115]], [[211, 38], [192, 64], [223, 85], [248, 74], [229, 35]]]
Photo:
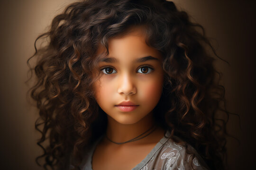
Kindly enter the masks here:
[[[170, 133], [166, 132], [165, 136], [169, 137]], [[191, 165], [195, 170], [209, 170], [206, 163], [191, 145], [187, 144], [186, 148], [185, 145], [176, 144], [171, 138], [165, 136], [155, 145], [146, 158], [132, 170], [190, 170], [192, 169]], [[101, 138], [84, 155], [80, 166], [81, 170], [92, 170], [92, 154]], [[192, 154], [186, 153], [187, 149], [194, 154], [194, 158]]]

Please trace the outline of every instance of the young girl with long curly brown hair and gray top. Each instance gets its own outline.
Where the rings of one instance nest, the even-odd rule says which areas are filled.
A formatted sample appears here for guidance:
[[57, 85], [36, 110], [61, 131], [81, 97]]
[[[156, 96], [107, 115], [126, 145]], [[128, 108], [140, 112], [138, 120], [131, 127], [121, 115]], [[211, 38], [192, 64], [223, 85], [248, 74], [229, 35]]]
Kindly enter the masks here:
[[228, 112], [205, 50], [211, 45], [173, 2], [76, 2], [37, 40], [43, 38], [46, 46], [32, 57], [37, 144], [44, 150], [38, 164], [44, 158], [45, 169], [59, 170], [224, 169], [225, 124], [217, 113]]

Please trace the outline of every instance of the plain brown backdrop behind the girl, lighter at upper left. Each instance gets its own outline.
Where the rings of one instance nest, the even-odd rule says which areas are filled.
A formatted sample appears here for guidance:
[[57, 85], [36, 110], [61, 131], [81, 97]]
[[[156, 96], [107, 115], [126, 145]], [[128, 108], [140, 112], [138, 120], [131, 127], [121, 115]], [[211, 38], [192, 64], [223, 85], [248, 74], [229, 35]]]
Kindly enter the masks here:
[[[39, 134], [34, 129], [36, 109], [26, 100], [26, 61], [38, 34], [51, 19], [74, 0], [0, 0], [0, 169], [37, 170], [34, 159]], [[228, 132], [229, 169], [253, 169], [255, 163], [255, 18], [253, 1], [174, 0], [194, 21], [204, 26], [219, 56], [217, 60], [226, 87], [231, 116]]]

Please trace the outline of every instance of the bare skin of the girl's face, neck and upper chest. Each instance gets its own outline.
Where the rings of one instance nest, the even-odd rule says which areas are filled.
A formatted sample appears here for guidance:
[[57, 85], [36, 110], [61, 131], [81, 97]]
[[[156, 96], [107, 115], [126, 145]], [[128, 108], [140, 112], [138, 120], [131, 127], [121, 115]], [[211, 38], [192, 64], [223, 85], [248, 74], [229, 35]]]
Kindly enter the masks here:
[[[159, 51], [146, 44], [141, 27], [111, 38], [109, 52], [108, 59], [99, 63], [102, 75], [94, 85], [95, 98], [108, 117], [107, 136], [112, 141], [125, 142], [155, 123], [152, 110], [162, 94], [163, 59]], [[144, 61], [138, 61], [142, 58]], [[136, 109], [123, 111], [117, 107], [127, 101], [136, 104]], [[132, 169], [163, 136], [164, 130], [157, 128], [149, 136], [126, 144], [114, 144], [103, 138], [93, 154], [93, 170]]]

